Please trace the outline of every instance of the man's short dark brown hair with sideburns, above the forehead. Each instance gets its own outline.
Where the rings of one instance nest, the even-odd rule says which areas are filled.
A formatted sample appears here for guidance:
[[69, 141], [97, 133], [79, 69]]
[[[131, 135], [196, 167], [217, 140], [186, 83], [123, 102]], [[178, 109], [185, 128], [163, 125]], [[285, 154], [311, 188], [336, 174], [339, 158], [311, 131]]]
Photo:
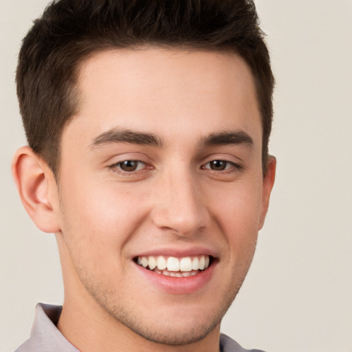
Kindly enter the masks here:
[[57, 176], [64, 126], [78, 109], [79, 65], [111, 48], [159, 45], [227, 51], [249, 65], [263, 126], [263, 171], [274, 76], [249, 0], [60, 0], [34, 21], [19, 53], [17, 94], [30, 147]]

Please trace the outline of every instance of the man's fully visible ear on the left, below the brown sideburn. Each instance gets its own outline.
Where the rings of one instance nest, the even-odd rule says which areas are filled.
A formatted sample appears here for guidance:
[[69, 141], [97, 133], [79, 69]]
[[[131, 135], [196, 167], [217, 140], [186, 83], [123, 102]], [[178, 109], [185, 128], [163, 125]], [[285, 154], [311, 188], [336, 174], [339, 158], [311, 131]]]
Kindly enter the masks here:
[[29, 146], [23, 146], [12, 160], [12, 177], [36, 226], [43, 232], [58, 232], [58, 190], [49, 166]]

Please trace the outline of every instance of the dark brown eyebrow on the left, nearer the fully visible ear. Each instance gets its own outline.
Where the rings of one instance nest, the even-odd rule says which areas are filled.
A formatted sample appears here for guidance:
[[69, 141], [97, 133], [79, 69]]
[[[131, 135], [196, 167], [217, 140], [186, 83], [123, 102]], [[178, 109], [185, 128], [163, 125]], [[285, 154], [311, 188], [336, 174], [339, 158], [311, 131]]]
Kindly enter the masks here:
[[98, 135], [98, 137], [94, 138], [90, 146], [91, 148], [94, 148], [110, 143], [131, 143], [158, 147], [163, 145], [162, 140], [160, 140], [159, 137], [153, 133], [144, 133], [132, 131], [130, 129], [115, 128]]

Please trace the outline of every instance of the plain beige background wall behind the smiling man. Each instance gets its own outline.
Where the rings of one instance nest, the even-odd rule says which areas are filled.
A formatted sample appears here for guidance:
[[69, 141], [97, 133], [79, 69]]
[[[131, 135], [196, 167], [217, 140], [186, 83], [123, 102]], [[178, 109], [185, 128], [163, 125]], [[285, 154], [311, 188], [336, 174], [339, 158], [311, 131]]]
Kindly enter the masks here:
[[[38, 302], [62, 303], [54, 236], [37, 230], [10, 175], [25, 144], [14, 70], [47, 0], [0, 0], [0, 352], [29, 336]], [[270, 212], [223, 322], [244, 347], [352, 351], [352, 1], [257, 0], [276, 74]], [[216, 297], [214, 297], [216, 299]]]

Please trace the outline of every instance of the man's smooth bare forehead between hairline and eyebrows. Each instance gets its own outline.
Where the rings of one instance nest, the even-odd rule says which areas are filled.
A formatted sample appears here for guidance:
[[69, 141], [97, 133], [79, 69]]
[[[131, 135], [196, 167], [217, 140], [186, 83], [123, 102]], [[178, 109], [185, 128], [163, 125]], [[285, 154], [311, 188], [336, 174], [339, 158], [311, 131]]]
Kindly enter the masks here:
[[167, 140], [180, 124], [199, 137], [226, 129], [261, 137], [252, 73], [236, 54], [109, 50], [81, 65], [78, 88], [80, 107], [69, 129], [86, 131], [90, 139], [122, 127]]

